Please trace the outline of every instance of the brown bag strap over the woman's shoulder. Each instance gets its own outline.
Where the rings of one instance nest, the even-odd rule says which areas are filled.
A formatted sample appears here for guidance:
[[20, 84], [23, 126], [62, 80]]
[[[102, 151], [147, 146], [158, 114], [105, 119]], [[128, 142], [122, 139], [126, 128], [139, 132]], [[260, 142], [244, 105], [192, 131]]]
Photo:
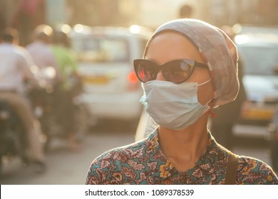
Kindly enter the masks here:
[[238, 156], [229, 151], [225, 185], [235, 185], [237, 178]]

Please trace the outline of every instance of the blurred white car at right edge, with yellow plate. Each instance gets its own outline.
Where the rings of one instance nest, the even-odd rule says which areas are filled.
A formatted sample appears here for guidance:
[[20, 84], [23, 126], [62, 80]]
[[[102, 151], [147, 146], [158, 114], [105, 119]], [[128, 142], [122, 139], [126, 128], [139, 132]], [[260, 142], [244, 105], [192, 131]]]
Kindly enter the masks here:
[[278, 28], [243, 28], [235, 43], [244, 68], [247, 102], [234, 133], [266, 138], [267, 125], [278, 103]]

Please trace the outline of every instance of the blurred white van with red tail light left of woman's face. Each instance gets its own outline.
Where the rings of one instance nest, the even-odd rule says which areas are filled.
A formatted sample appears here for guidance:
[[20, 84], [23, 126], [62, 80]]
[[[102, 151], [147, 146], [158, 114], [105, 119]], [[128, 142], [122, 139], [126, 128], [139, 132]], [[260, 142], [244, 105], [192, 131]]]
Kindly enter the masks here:
[[133, 71], [133, 60], [143, 56], [152, 34], [141, 26], [73, 27], [71, 43], [84, 88], [81, 100], [98, 119], [138, 122], [143, 92]]

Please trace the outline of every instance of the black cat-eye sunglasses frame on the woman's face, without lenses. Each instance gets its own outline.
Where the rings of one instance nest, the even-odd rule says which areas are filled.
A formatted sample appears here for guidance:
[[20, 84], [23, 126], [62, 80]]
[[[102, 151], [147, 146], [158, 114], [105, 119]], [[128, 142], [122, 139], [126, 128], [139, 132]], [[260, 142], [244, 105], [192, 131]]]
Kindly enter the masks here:
[[[180, 83], [185, 82], [186, 80], [188, 80], [189, 77], [192, 75], [192, 72], [194, 71], [195, 67], [208, 69], [208, 66], [206, 64], [198, 63], [195, 60], [171, 60], [167, 63], [164, 63], [163, 65], [158, 65], [157, 63], [153, 62], [152, 60], [146, 60], [146, 59], [133, 60], [133, 66], [134, 66], [135, 74], [138, 77], [138, 80], [140, 80], [140, 82], [143, 82], [143, 83], [151, 81], [151, 80], [143, 81], [138, 75], [138, 68], [140, 66], [140, 63], [143, 63], [143, 62], [144, 63], [149, 63], [149, 65], [153, 66], [153, 70], [156, 73], [155, 78], [158, 75], [158, 72], [161, 70], [163, 72], [163, 76], [165, 77], [165, 79], [170, 81], [170, 82], [173, 82], [173, 81], [169, 80], [168, 75], [165, 75], [165, 69], [163, 69], [163, 67], [166, 67], [167, 65], [170, 65], [170, 63], [174, 63], [174, 62], [186, 63], [187, 65], [189, 65], [191, 67], [190, 72], [188, 72], [188, 75], [187, 75], [187, 77], [185, 77], [185, 80], [182, 80], [180, 82], [174, 82], [174, 83], [177, 83], [177, 84], [180, 84]], [[153, 80], [155, 80], [155, 78]]]

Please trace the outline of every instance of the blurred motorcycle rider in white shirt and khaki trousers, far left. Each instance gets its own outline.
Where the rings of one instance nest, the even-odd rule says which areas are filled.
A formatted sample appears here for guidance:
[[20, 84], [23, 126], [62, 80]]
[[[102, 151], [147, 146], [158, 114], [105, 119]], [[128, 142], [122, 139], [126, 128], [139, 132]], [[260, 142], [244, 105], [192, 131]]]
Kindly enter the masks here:
[[32, 68], [36, 68], [29, 52], [19, 46], [19, 33], [14, 28], [5, 28], [0, 43], [0, 99], [4, 99], [14, 108], [24, 124], [29, 141], [31, 165], [36, 171], [46, 170], [43, 146], [38, 135], [40, 127], [31, 111], [31, 104], [24, 96], [25, 81], [38, 85]]

